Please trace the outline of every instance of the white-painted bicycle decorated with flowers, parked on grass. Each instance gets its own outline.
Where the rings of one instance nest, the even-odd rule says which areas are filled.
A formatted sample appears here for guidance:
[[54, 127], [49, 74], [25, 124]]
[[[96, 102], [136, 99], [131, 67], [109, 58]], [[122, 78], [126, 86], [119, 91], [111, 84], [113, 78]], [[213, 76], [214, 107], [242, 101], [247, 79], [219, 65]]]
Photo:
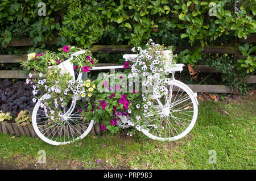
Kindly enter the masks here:
[[[58, 68], [62, 72], [68, 72], [75, 78], [71, 60], [73, 57], [83, 53], [85, 52], [79, 51], [72, 54], [71, 58], [58, 65]], [[137, 54], [123, 55], [123, 58], [129, 57], [137, 57]], [[141, 131], [154, 140], [178, 140], [188, 134], [196, 123], [198, 113], [197, 94], [187, 85], [174, 78], [175, 71], [182, 71], [183, 66], [184, 64], [175, 64], [168, 70], [171, 73], [171, 81], [167, 85], [169, 90], [167, 95], [160, 97], [151, 96], [153, 102], [152, 109], [143, 118], [147, 128]], [[91, 70], [122, 68], [123, 66], [101, 66], [94, 67]], [[84, 74], [80, 71], [77, 79], [83, 78]], [[38, 102], [32, 112], [33, 128], [43, 141], [51, 145], [68, 144], [84, 138], [95, 124], [94, 120], [81, 116], [80, 110], [86, 111], [88, 106], [89, 103], [82, 99], [81, 96], [73, 96], [67, 106], [59, 109], [61, 120], [53, 121], [52, 124], [46, 126], [44, 123], [48, 121], [49, 117], [44, 114], [44, 109], [40, 107]], [[117, 125], [123, 129], [131, 126], [129, 118], [123, 115], [117, 117]]]

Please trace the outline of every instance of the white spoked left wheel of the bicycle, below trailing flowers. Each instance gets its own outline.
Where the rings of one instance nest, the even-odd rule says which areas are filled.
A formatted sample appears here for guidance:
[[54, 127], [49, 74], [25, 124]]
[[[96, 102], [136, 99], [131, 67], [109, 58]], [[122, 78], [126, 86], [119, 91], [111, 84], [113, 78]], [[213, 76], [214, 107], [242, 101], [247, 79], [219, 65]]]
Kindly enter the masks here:
[[67, 106], [59, 107], [57, 114], [51, 119], [37, 102], [32, 113], [32, 125], [36, 134], [51, 145], [64, 145], [84, 138], [92, 129], [94, 120], [81, 116], [87, 111], [88, 102], [71, 99]]

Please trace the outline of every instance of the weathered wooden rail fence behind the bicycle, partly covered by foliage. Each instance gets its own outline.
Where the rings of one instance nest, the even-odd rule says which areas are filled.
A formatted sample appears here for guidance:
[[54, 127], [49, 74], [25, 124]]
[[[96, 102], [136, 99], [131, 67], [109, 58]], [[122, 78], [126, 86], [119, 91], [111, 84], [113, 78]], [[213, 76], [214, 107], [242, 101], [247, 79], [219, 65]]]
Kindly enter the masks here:
[[[251, 36], [246, 40], [236, 41], [236, 46], [208, 46], [205, 47], [202, 53], [212, 53], [212, 54], [234, 54], [234, 59], [239, 60], [242, 55], [240, 50], [238, 50], [238, 45], [243, 42], [255, 43], [255, 36]], [[57, 38], [53, 38], [52, 41], [45, 41], [47, 45], [53, 45], [57, 43]], [[11, 40], [10, 47], [21, 47], [21, 46], [31, 46], [33, 45], [30, 40]], [[132, 53], [131, 48], [128, 45], [93, 45], [89, 50], [91, 52], [109, 52], [109, 53]], [[188, 47], [176, 47], [174, 53], [180, 53]], [[193, 47], [196, 48], [196, 47]], [[20, 63], [27, 60], [27, 55], [22, 56], [0, 54], [0, 63]], [[96, 66], [113, 66], [118, 64], [96, 64]], [[198, 68], [198, 69], [197, 69]], [[215, 68], [209, 65], [196, 65], [195, 69], [200, 73], [221, 73]], [[234, 70], [235, 71], [235, 70]], [[22, 70], [0, 70], [0, 78], [28, 78], [27, 74], [24, 74]], [[256, 83], [256, 76], [251, 76], [246, 79], [247, 83]], [[195, 92], [216, 92], [216, 93], [232, 93], [232, 89], [229, 86], [224, 85], [188, 85]]]

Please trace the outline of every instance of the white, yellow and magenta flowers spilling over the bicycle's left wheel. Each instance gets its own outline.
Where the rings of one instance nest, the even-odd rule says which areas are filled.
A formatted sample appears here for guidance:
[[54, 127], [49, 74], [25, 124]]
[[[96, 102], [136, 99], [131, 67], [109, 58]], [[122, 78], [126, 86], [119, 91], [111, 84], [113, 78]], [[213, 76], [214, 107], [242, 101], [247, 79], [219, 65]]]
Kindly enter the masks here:
[[[37, 67], [36, 69], [42, 70], [42, 72], [36, 74], [30, 73], [29, 76], [31, 78], [32, 75], [39, 75], [39, 79], [33, 79], [32, 81], [31, 79], [27, 79], [26, 81], [27, 83], [31, 82], [34, 84], [32, 93], [35, 98], [32, 101], [35, 103], [38, 100], [40, 107], [44, 110], [44, 114], [51, 120], [61, 119], [61, 107], [64, 108], [67, 106], [74, 95], [81, 96], [82, 98], [90, 98], [96, 90], [96, 85], [90, 79], [84, 81], [81, 79], [75, 80], [69, 73], [60, 73], [60, 70], [57, 69], [56, 65], [61, 64], [63, 62], [62, 60], [67, 60], [70, 54], [79, 50], [81, 49], [65, 46], [59, 54], [48, 51], [41, 54], [28, 54], [29, 62], [26, 65], [35, 64], [36, 61], [42, 60], [48, 61], [47, 65], [51, 65], [50, 69], [44, 66], [41, 68]], [[74, 65], [74, 70], [82, 68], [82, 66], [88, 69], [89, 66], [93, 66], [94, 61], [91, 58], [90, 52], [85, 52], [86, 54], [84, 56], [80, 55], [79, 58], [73, 58], [71, 63], [77, 64], [81, 62], [79, 65]], [[83, 110], [80, 111], [82, 112]]]

